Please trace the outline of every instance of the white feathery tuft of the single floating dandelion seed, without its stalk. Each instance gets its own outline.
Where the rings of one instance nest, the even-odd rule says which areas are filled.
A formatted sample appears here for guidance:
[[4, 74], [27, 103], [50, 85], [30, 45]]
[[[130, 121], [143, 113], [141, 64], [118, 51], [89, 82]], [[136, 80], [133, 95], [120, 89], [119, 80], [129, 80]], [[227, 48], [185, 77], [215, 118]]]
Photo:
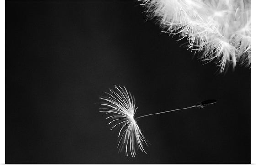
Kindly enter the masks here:
[[119, 128], [119, 151], [125, 150], [125, 155], [128, 153], [135, 157], [136, 150], [145, 152], [144, 145], [147, 145], [147, 140], [142, 135], [139, 126], [137, 125], [134, 115], [137, 107], [135, 106], [135, 98], [126, 88], [115, 86], [117, 92], [110, 89], [111, 93], [107, 93], [107, 97], [100, 97], [106, 103], [102, 103], [102, 111], [110, 114], [106, 119], [111, 119], [108, 124], [112, 124], [112, 129]]

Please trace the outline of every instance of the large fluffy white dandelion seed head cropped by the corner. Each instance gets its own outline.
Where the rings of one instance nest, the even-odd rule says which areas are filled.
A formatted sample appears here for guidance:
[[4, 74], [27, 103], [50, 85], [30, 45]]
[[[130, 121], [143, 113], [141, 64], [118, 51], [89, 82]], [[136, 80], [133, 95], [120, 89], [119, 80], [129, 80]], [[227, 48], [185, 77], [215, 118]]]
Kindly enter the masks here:
[[232, 64], [251, 67], [251, 0], [140, 0], [163, 32], [187, 38], [223, 72]]

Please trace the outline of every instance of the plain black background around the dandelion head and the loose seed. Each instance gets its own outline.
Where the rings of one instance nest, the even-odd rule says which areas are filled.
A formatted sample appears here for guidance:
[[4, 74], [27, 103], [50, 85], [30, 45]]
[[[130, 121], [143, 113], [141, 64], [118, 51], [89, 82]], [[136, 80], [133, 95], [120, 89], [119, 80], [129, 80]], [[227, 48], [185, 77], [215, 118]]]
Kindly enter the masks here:
[[[136, 1], [6, 1], [6, 163], [250, 163], [251, 70], [218, 74]], [[197, 54], [196, 54], [197, 55]], [[151, 143], [118, 154], [99, 96], [124, 85]]]

